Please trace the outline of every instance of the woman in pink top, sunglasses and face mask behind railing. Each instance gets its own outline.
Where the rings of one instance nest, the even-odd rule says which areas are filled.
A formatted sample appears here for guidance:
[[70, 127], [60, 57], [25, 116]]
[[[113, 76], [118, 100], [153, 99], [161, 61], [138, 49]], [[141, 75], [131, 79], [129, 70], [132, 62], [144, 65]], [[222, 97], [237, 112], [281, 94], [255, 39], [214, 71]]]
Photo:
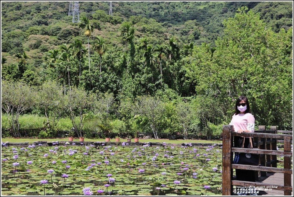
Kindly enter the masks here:
[[[238, 133], [254, 132], [255, 119], [254, 116], [250, 113], [250, 105], [246, 97], [242, 96], [236, 100], [235, 113], [229, 125], [233, 125], [234, 131]], [[243, 137], [235, 136], [234, 147], [241, 148], [243, 139]], [[249, 137], [245, 138], [244, 148], [250, 148]], [[254, 170], [236, 169], [236, 179], [238, 181], [255, 182]]]

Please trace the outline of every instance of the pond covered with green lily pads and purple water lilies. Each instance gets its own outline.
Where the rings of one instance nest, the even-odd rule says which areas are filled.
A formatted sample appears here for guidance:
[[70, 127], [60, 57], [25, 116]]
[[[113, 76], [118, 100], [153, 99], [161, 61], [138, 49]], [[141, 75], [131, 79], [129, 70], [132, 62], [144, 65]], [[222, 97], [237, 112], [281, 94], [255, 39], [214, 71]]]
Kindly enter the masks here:
[[1, 156], [2, 195], [221, 195], [216, 146], [40, 144]]

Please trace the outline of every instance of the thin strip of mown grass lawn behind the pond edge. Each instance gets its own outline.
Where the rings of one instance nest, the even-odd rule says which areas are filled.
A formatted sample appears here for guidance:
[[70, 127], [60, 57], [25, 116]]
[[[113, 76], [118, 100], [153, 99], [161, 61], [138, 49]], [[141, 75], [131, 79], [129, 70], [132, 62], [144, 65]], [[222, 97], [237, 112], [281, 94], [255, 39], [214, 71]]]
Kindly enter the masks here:
[[[37, 141], [47, 141], [47, 142], [53, 142], [53, 141], [68, 141], [68, 138], [54, 138], [54, 139], [38, 139], [38, 138], [1, 138], [2, 142], [13, 142], [13, 143], [21, 143], [21, 142], [28, 142], [33, 143]], [[78, 138], [75, 138], [74, 141], [79, 141]], [[105, 142], [105, 139], [89, 139], [85, 138], [85, 142]], [[115, 139], [111, 139], [111, 142], [115, 142]], [[120, 139], [120, 142], [126, 142], [126, 139]], [[131, 142], [134, 142], [134, 139], [131, 140]], [[168, 139], [139, 139], [139, 142], [141, 143], [148, 143], [148, 142], [166, 142], [171, 144], [181, 144], [181, 143], [216, 143], [220, 144], [223, 143], [222, 140], [168, 140]]]

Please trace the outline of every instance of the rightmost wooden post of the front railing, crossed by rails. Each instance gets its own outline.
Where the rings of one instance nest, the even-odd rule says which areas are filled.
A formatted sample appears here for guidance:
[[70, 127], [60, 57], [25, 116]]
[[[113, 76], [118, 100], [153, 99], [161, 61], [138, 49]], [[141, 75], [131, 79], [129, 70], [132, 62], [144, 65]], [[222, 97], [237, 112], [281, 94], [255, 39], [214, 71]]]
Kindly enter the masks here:
[[[290, 137], [284, 138], [284, 152], [291, 152]], [[284, 156], [284, 169], [291, 169], [291, 157]], [[291, 186], [291, 174], [284, 174], [284, 186]], [[284, 191], [284, 196], [291, 196], [290, 191]]]

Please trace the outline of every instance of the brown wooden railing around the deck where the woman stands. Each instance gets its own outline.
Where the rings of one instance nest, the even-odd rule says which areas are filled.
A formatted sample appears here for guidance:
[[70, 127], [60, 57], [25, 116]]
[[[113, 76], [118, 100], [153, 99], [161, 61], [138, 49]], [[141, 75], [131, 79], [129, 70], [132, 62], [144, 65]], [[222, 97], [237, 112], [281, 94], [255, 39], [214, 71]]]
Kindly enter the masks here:
[[[223, 173], [222, 173], [222, 195], [231, 196], [233, 195], [233, 185], [236, 186], [269, 186], [277, 190], [283, 190], [285, 196], [290, 196], [292, 187], [291, 187], [291, 140], [293, 140], [292, 135], [286, 134], [276, 134], [269, 130], [268, 133], [265, 133], [265, 127], [260, 127], [260, 130], [255, 131], [254, 133], [241, 133], [233, 132], [232, 125], [223, 125]], [[273, 129], [275, 130], [275, 129]], [[259, 133], [258, 133], [259, 132]], [[242, 137], [253, 137], [258, 139], [255, 141], [255, 146], [260, 149], [249, 149], [249, 148], [233, 148], [233, 136], [242, 136]], [[260, 139], [260, 140], [259, 140]], [[284, 140], [284, 151], [281, 150], [272, 150], [276, 149], [276, 139]], [[270, 145], [271, 144], [271, 145]], [[261, 160], [259, 166], [255, 165], [242, 165], [242, 164], [232, 164], [233, 152], [240, 153], [255, 153], [265, 155], [264, 160]], [[284, 156], [284, 168], [276, 168], [276, 165], [273, 165], [271, 162], [274, 160], [276, 155]], [[268, 157], [272, 156], [272, 158]], [[268, 167], [268, 161], [270, 161], [271, 167]], [[274, 167], [275, 166], [275, 167]], [[250, 181], [237, 181], [233, 180], [233, 169], [243, 169], [243, 170], [257, 170], [261, 172], [277, 172], [284, 173], [284, 184], [270, 184], [270, 183], [257, 183]]]

